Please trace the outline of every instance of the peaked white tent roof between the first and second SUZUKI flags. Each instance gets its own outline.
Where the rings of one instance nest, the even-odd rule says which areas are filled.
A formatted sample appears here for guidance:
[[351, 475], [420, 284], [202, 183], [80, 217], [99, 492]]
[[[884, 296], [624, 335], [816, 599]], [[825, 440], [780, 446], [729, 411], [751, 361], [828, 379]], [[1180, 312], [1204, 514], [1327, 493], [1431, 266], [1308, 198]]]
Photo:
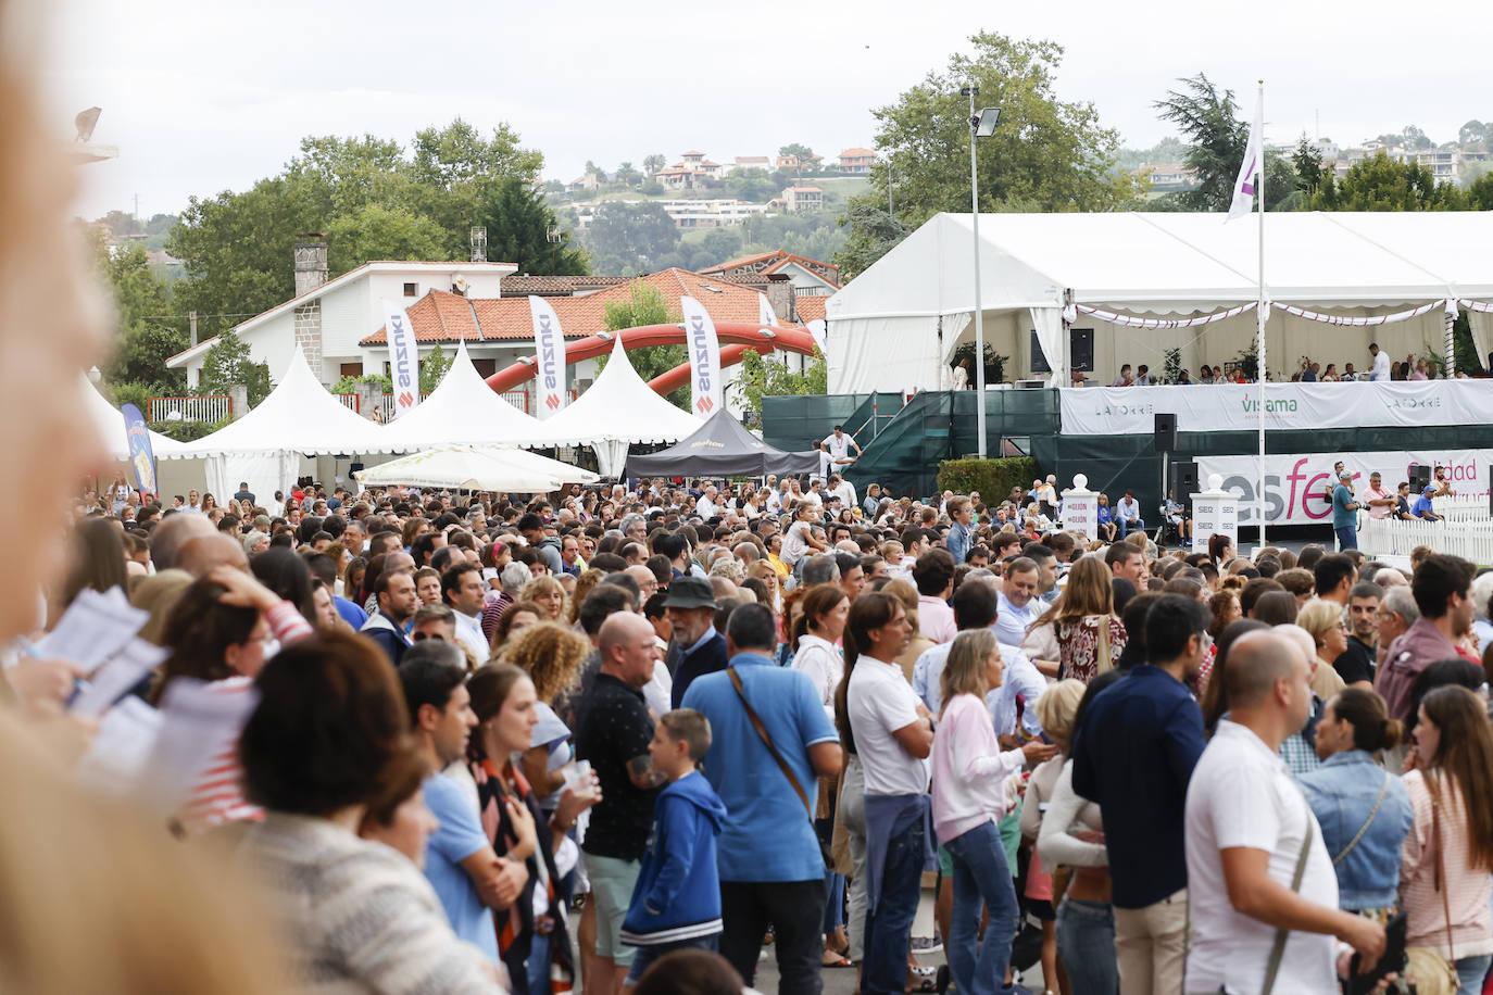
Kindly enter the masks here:
[[391, 452], [412, 452], [442, 445], [521, 446], [537, 431], [539, 419], [499, 397], [461, 343], [440, 385], [412, 412], [385, 425], [382, 437]]

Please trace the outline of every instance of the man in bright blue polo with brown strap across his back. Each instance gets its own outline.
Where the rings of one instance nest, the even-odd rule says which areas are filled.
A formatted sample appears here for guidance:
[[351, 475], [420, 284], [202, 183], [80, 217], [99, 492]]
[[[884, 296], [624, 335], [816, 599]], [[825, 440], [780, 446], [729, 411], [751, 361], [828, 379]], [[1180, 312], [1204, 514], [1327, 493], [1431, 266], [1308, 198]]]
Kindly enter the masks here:
[[[809, 806], [818, 797], [818, 777], [841, 770], [839, 735], [808, 674], [773, 665], [778, 638], [767, 607], [744, 604], [732, 612], [726, 641], [730, 668], [697, 677], [684, 695], [685, 709], [711, 721], [705, 777], [729, 814], [717, 853], [721, 956], [751, 986], [770, 923], [778, 991], [818, 995], [826, 889]], [[733, 674], [741, 679], [741, 694]], [[791, 780], [754, 728], [744, 697]]]

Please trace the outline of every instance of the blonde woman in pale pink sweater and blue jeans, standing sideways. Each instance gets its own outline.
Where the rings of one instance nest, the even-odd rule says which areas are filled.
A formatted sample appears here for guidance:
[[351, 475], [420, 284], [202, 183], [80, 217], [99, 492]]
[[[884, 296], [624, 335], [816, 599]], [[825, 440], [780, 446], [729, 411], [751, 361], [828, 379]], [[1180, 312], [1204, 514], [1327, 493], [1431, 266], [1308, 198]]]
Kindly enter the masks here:
[[[1044, 743], [1000, 750], [985, 712], [985, 695], [1000, 686], [1000, 649], [988, 628], [954, 637], [939, 674], [942, 713], [929, 758], [933, 831], [954, 867], [948, 967], [960, 992], [994, 991], [1005, 980], [1017, 929], [1017, 895], [997, 828], [1006, 813], [1006, 779], [1029, 759], [1051, 753]], [[990, 922], [978, 941], [982, 908]]]

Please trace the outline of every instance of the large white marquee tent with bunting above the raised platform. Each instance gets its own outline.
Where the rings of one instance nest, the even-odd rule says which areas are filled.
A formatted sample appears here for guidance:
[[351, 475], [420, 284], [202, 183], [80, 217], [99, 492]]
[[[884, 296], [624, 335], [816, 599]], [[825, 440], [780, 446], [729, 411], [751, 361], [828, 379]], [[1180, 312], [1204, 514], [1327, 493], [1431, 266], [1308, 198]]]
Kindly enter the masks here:
[[[1011, 358], [1008, 370], [1029, 376], [1036, 333], [1051, 382], [1066, 386], [1063, 309], [1072, 303], [1072, 327], [1093, 330], [1100, 382], [1121, 362], [1160, 373], [1173, 348], [1193, 371], [1227, 362], [1254, 342], [1253, 309], [1184, 328], [1126, 319], [1175, 321], [1251, 304], [1256, 236], [1254, 218], [1226, 222], [1221, 213], [981, 215], [985, 342]], [[972, 249], [970, 215], [935, 215], [830, 298], [830, 392], [948, 386], [954, 351], [975, 336]], [[1368, 368], [1369, 342], [1394, 360], [1441, 355], [1442, 301], [1493, 303], [1493, 212], [1266, 215], [1265, 252], [1265, 298], [1275, 304], [1266, 324], [1272, 380], [1285, 379], [1303, 355], [1323, 367]], [[1391, 324], [1341, 327], [1281, 306], [1351, 318], [1429, 307]], [[1472, 318], [1486, 357], [1489, 315]]]

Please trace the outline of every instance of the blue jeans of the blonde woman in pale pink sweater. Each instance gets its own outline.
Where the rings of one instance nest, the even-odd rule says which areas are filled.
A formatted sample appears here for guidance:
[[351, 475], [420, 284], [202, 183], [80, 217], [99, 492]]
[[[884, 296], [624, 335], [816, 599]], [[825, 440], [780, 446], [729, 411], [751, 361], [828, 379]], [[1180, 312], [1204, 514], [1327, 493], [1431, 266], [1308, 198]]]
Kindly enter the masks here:
[[[944, 844], [954, 858], [954, 914], [948, 923], [948, 971], [960, 995], [1006, 991], [1011, 940], [1017, 934], [1017, 891], [1011, 883], [1000, 831], [985, 822]], [[979, 911], [990, 908], [985, 938]]]

